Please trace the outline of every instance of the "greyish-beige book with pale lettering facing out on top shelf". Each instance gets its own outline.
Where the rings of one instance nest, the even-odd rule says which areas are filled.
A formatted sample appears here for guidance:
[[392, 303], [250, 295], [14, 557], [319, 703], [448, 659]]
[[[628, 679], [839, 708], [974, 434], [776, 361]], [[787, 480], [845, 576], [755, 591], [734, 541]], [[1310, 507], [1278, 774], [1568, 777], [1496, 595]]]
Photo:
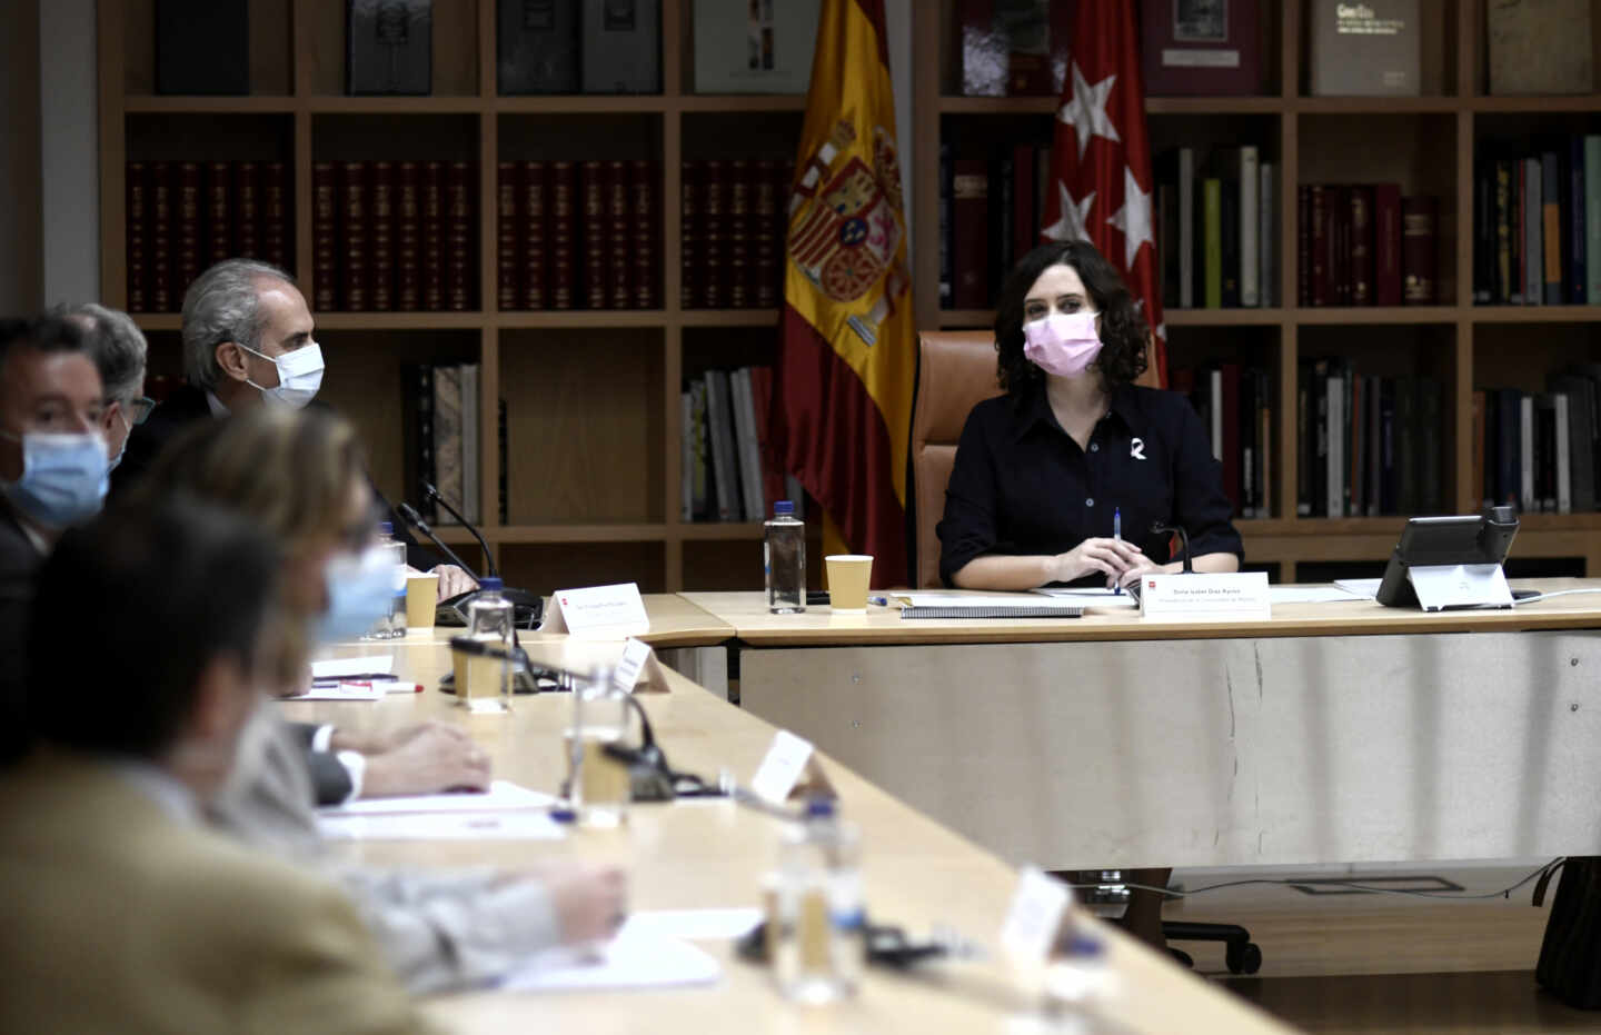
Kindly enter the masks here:
[[1311, 0], [1311, 93], [1417, 96], [1418, 0]]

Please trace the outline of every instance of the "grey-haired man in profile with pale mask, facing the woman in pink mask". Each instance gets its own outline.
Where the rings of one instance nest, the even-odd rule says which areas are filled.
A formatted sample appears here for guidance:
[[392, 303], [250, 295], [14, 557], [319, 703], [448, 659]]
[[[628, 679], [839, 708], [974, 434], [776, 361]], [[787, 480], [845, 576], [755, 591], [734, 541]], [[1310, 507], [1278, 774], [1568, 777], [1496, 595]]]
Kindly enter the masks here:
[[[207, 418], [253, 406], [311, 403], [323, 378], [322, 346], [306, 296], [288, 272], [256, 259], [224, 259], [184, 293], [186, 386], [168, 395], [134, 434], [112, 480], [115, 493], [138, 482], [179, 430]], [[399, 434], [399, 429], [395, 429]], [[378, 486], [373, 486], [375, 496]], [[379, 504], [389, 501], [379, 496]], [[475, 589], [472, 576], [416, 544], [405, 521], [391, 514], [395, 537], [407, 544], [413, 568], [439, 574], [440, 600]], [[437, 565], [437, 566], [435, 566]]]

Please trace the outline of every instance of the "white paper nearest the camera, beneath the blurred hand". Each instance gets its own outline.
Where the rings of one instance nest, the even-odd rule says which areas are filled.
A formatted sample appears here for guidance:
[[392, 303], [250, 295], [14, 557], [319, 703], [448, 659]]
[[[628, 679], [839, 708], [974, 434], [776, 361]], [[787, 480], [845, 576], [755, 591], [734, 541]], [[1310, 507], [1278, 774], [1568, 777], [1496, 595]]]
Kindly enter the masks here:
[[541, 952], [501, 982], [509, 992], [661, 989], [706, 985], [722, 966], [704, 949], [676, 937], [629, 931], [629, 925], [591, 957], [570, 949]]

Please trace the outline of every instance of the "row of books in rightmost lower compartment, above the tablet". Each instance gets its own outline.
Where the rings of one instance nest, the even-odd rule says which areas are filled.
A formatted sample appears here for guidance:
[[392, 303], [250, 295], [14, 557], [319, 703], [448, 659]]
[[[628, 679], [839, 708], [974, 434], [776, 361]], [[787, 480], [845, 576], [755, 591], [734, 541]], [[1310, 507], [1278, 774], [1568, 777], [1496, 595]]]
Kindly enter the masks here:
[[1473, 394], [1473, 499], [1524, 514], [1585, 514], [1601, 483], [1601, 363], [1548, 378], [1547, 392]]

